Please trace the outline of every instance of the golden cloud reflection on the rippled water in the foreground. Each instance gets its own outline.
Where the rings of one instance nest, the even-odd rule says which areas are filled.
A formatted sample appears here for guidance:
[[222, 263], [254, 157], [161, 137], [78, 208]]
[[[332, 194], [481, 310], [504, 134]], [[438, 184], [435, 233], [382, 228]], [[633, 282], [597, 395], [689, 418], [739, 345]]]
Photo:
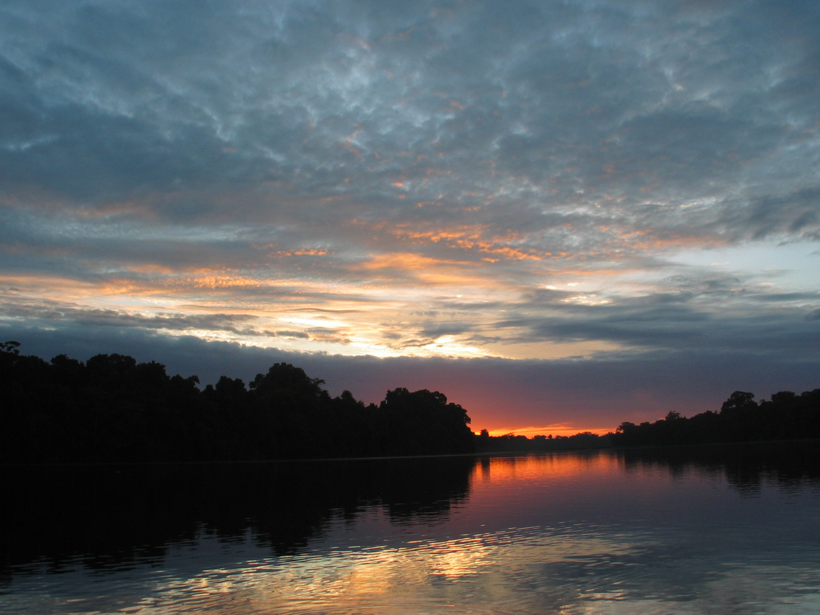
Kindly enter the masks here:
[[[509, 464], [495, 462], [493, 476], [501, 478], [496, 466]], [[522, 604], [521, 575], [533, 576], [550, 563], [631, 551], [604, 534], [558, 534], [529, 527], [445, 540], [421, 535], [396, 546], [340, 546], [241, 562], [158, 579], [151, 592], [156, 598], [144, 599], [140, 613], [175, 613], [192, 604], [197, 613], [218, 615], [496, 613], [490, 604]]]

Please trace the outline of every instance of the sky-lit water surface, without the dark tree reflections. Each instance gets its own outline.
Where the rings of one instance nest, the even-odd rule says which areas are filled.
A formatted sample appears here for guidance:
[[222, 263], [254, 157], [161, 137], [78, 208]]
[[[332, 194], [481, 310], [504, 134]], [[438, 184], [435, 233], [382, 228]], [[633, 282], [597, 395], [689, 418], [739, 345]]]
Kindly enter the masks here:
[[[124, 570], [69, 560], [60, 575], [16, 575], [4, 604], [144, 615], [814, 613], [810, 545], [778, 551], [774, 536], [760, 546], [733, 531], [738, 515], [719, 514], [771, 513], [776, 485], [749, 501], [719, 474], [606, 451], [481, 456], [466, 492], [435, 514], [396, 517], [359, 500], [285, 554], [253, 530], [200, 531]], [[780, 495], [811, 526], [811, 498]]]

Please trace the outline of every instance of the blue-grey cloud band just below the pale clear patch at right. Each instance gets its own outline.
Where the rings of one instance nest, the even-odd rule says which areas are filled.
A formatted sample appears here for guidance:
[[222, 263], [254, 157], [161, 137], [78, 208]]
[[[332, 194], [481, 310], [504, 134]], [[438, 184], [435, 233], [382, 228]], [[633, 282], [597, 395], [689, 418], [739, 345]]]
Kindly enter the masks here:
[[807, 322], [820, 300], [816, 291], [772, 293], [736, 278], [667, 281], [677, 288], [597, 305], [567, 303], [571, 293], [541, 290], [520, 311], [530, 317], [499, 324], [523, 330], [526, 341], [595, 339], [670, 350], [813, 353], [820, 343], [820, 330]]

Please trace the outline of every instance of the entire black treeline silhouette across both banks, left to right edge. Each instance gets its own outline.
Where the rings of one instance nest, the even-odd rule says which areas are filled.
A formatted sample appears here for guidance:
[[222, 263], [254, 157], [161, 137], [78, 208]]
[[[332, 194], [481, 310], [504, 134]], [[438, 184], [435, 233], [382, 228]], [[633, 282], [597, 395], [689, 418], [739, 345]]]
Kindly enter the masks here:
[[246, 386], [169, 376], [121, 354], [50, 362], [0, 343], [0, 462], [239, 461], [712, 444], [820, 438], [820, 389], [759, 403], [735, 391], [719, 412], [571, 436], [474, 435], [467, 411], [438, 391], [389, 390], [365, 404], [331, 397], [300, 367], [275, 363]]

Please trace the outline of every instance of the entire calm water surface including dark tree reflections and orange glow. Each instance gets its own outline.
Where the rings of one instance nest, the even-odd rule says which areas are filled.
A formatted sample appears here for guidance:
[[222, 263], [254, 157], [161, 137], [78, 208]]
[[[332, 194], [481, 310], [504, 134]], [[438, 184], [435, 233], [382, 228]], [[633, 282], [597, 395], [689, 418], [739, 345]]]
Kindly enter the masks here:
[[2, 613], [820, 613], [820, 443], [0, 470]]

